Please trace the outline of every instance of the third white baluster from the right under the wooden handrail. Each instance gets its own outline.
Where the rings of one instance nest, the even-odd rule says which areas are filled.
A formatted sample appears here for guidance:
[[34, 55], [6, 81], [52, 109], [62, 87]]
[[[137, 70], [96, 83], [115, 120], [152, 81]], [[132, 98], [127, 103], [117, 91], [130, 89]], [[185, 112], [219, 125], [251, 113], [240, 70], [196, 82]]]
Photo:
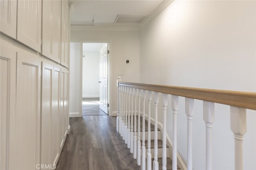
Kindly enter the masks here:
[[188, 119], [188, 129], [187, 129], [187, 133], [188, 133], [188, 165], [187, 168], [188, 170], [192, 170], [193, 166], [192, 166], [192, 119], [193, 119], [193, 115], [194, 115], [194, 99], [191, 98], [185, 98], [185, 112], [187, 115], [187, 119]]

